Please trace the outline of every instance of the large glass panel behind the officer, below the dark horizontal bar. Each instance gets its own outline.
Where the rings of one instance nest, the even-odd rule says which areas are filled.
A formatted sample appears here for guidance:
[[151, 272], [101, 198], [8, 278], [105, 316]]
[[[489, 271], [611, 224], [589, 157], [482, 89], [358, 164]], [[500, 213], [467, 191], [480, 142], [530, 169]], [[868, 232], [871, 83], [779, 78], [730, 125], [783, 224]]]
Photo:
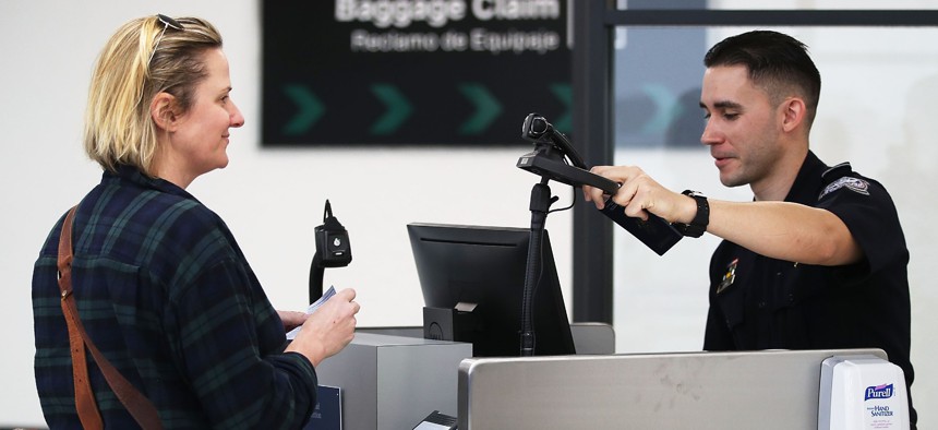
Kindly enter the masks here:
[[[698, 106], [703, 53], [724, 37], [748, 29], [618, 28], [615, 164], [638, 165], [675, 191], [751, 200], [748, 187], [720, 183], [708, 150], [699, 143], [703, 115]], [[851, 162], [892, 193], [911, 253], [913, 315], [925, 314], [938, 306], [935, 289], [924, 287], [934, 284], [929, 268], [938, 261], [938, 193], [930, 187], [938, 183], [938, 28], [771, 29], [808, 45], [820, 70], [823, 84], [811, 150], [828, 165]], [[626, 231], [615, 231], [618, 353], [699, 350], [708, 264], [719, 239], [684, 239], [658, 256]], [[927, 335], [914, 326], [913, 345], [927, 344], [919, 337]]]

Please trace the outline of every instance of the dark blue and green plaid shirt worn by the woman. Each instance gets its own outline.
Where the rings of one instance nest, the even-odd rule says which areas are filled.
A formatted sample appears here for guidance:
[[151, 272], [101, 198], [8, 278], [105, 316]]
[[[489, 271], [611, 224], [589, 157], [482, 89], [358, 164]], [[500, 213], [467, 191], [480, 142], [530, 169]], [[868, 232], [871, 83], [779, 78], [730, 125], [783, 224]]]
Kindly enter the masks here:
[[[61, 223], [33, 273], [36, 385], [50, 428], [81, 428], [57, 280]], [[76, 213], [72, 285], [82, 322], [166, 428], [300, 428], [316, 375], [282, 354], [284, 326], [228, 227], [184, 190], [106, 171]], [[136, 428], [88, 355], [105, 426]]]

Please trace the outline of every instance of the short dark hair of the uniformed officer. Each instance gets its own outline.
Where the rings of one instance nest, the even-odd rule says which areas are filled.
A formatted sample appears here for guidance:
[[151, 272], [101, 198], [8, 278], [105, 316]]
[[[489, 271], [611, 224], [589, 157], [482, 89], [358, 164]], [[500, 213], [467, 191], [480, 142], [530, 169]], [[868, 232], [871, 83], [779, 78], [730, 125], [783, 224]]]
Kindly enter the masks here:
[[749, 79], [763, 87], [772, 103], [781, 103], [783, 91], [793, 87], [807, 105], [808, 127], [817, 115], [820, 98], [820, 73], [807, 46], [792, 36], [770, 31], [754, 31], [731, 36], [713, 45], [703, 56], [708, 69], [719, 65], [745, 65]]

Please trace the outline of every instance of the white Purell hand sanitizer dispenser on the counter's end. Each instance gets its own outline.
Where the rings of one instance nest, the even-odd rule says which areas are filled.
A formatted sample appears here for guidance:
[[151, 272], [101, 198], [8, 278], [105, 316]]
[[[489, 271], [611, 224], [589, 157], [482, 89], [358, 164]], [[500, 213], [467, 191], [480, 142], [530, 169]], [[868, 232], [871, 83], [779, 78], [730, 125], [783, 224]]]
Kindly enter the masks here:
[[818, 430], [909, 430], [905, 375], [876, 356], [834, 356], [821, 365]]

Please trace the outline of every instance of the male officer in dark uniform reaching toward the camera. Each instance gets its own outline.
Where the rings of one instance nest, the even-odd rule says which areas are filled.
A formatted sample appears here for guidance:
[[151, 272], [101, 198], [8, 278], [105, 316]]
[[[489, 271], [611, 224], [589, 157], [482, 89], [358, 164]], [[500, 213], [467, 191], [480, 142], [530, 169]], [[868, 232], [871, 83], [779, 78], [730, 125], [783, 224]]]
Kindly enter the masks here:
[[[910, 354], [909, 250], [886, 189], [808, 148], [820, 74], [801, 41], [757, 31], [707, 52], [700, 107], [720, 181], [753, 202], [668, 190], [637, 166], [598, 166], [626, 215], [723, 238], [710, 263], [706, 350], [877, 347]], [[584, 187], [603, 206], [603, 191]], [[911, 390], [910, 390], [911, 393]], [[912, 428], [916, 414], [911, 407]]]

